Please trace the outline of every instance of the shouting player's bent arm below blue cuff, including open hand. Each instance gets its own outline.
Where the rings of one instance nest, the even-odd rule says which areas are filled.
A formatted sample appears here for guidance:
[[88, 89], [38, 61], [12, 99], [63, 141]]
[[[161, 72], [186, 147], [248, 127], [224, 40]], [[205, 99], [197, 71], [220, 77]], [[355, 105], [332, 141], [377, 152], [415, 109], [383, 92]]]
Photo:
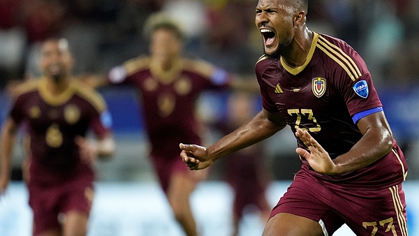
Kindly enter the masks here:
[[311, 168], [328, 175], [336, 175], [364, 168], [391, 152], [392, 133], [384, 112], [363, 117], [358, 122], [362, 138], [345, 154], [332, 160], [328, 152], [307, 131], [298, 129], [295, 135], [304, 142], [310, 152], [297, 148], [297, 154], [306, 158]]

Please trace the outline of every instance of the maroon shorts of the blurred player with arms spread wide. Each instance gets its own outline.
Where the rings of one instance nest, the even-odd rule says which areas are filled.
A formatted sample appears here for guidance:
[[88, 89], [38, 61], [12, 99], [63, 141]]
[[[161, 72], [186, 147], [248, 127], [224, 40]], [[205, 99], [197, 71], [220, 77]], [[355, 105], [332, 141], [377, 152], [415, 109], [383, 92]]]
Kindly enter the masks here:
[[[188, 179], [191, 179], [196, 182], [200, 182], [207, 177], [207, 170], [189, 170], [186, 164], [182, 161], [179, 154], [168, 158], [168, 156], [152, 156], [152, 163], [154, 169], [156, 170], [157, 177], [159, 177], [159, 182], [161, 188], [165, 193], [167, 193], [170, 179], [175, 174], [181, 174], [188, 176]], [[208, 168], [207, 168], [208, 169]]]

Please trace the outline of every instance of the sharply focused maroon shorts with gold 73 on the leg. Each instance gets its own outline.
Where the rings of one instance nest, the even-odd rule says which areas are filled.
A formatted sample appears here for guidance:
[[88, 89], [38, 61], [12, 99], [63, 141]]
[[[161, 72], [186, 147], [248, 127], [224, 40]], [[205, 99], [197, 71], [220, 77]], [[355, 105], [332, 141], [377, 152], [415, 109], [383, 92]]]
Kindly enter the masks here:
[[407, 236], [402, 184], [387, 189], [341, 189], [320, 184], [300, 171], [270, 217], [281, 212], [320, 223], [325, 235], [346, 223], [356, 235]]

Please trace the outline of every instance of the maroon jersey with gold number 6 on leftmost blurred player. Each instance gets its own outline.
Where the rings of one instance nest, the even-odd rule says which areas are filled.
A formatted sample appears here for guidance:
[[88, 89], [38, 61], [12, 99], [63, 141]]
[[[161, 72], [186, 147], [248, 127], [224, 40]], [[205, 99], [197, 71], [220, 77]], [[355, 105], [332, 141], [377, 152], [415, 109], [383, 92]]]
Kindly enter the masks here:
[[101, 96], [82, 89], [77, 82], [59, 96], [47, 92], [46, 79], [22, 86], [10, 117], [27, 125], [31, 167], [30, 183], [60, 184], [75, 175], [93, 180], [89, 165], [80, 161], [75, 137], [85, 136], [89, 128], [99, 137], [110, 131], [110, 115]]

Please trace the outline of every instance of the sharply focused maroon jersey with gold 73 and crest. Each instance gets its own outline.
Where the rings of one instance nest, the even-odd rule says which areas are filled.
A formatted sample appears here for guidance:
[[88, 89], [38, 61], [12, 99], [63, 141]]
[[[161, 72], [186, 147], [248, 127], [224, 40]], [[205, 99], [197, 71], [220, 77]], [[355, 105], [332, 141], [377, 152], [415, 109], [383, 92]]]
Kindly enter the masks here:
[[[348, 152], [362, 138], [356, 125], [359, 119], [383, 110], [360, 55], [344, 41], [323, 34], [314, 33], [304, 65], [291, 68], [281, 59], [260, 57], [256, 75], [263, 108], [279, 112], [294, 132], [307, 129], [331, 158]], [[307, 149], [301, 140], [297, 143]], [[365, 181], [392, 186], [407, 171], [395, 141], [393, 147], [393, 152], [361, 170], [333, 176], [312, 172], [325, 180], [348, 180], [350, 185]], [[311, 170], [306, 160], [302, 163], [302, 168]]]

